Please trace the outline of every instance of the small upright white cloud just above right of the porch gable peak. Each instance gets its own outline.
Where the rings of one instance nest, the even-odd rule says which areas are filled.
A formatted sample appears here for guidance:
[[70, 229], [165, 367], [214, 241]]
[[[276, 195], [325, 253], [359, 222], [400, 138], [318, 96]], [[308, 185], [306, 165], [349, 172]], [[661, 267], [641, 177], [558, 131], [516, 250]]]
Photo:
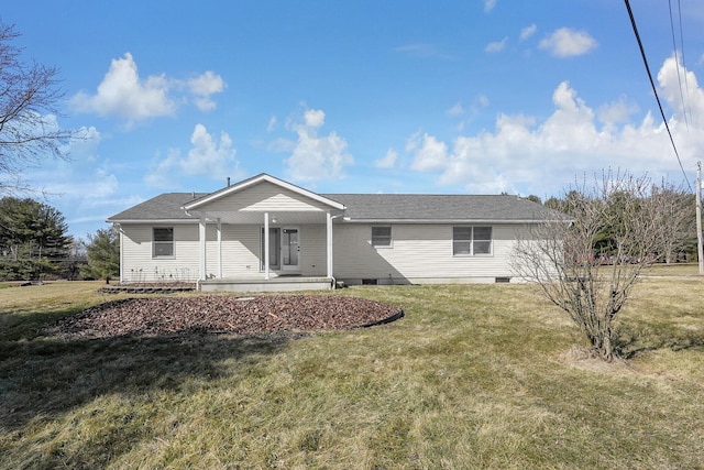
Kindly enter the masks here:
[[285, 160], [287, 172], [295, 181], [340, 179], [344, 176], [345, 166], [354, 164], [343, 138], [334, 131], [327, 136], [318, 136], [324, 117], [322, 110], [307, 110], [304, 123], [296, 128], [298, 142]]

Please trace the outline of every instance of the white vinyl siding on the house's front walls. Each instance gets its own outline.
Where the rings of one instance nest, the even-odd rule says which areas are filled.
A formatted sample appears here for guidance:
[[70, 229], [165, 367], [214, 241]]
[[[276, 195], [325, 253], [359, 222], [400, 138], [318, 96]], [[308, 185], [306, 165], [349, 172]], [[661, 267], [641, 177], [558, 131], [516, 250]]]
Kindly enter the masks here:
[[[174, 225], [174, 256], [152, 258], [152, 225], [122, 225], [122, 282], [187, 281], [199, 276], [198, 223]], [[157, 226], [158, 227], [158, 226]], [[217, 225], [207, 226], [207, 273], [226, 278], [263, 278], [260, 272], [261, 225], [222, 225], [221, 252]], [[512, 276], [509, 261], [517, 237], [529, 238], [522, 225], [492, 227], [492, 255], [454, 256], [453, 225], [393, 225], [393, 249], [372, 244], [371, 223], [333, 225], [333, 275], [338, 280], [388, 282], [493, 282]], [[326, 226], [299, 225], [300, 274], [326, 275]], [[481, 242], [482, 240], [476, 240]], [[475, 247], [476, 250], [476, 247]], [[481, 248], [480, 248], [481, 250]], [[218, 255], [220, 254], [220, 259]]]

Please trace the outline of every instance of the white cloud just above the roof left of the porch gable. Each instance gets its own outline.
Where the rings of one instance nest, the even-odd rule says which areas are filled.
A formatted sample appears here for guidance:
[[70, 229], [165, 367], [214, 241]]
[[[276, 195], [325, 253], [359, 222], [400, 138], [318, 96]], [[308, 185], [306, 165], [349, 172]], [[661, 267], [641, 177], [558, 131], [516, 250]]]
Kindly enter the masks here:
[[[190, 136], [191, 149], [184, 157], [179, 149], [169, 149], [165, 159], [157, 161], [145, 176], [150, 186], [174, 186], [179, 176], [202, 175], [211, 179], [227, 176], [239, 178], [243, 172], [237, 161], [237, 150], [227, 132], [220, 133], [220, 141], [213, 138], [205, 125], [196, 124]], [[158, 159], [157, 159], [158, 160]]]

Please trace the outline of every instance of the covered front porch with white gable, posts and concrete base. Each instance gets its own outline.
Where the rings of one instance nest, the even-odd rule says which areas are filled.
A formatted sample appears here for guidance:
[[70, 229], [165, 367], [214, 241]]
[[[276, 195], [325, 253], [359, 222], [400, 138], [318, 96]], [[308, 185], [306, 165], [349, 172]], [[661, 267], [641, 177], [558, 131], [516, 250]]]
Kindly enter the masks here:
[[184, 207], [198, 217], [200, 291], [330, 289], [344, 206], [266, 175]]

